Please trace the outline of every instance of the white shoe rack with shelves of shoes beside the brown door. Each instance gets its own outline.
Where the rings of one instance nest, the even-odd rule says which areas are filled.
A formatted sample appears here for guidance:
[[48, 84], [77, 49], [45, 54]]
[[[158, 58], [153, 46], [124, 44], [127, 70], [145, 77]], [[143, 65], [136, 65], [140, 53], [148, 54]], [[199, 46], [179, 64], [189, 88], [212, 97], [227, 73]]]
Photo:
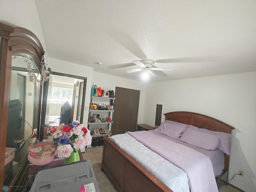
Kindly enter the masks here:
[[[101, 137], [101, 136], [110, 136], [111, 135], [111, 126], [112, 126], [112, 117], [114, 114], [114, 106], [110, 106], [110, 100], [115, 100], [116, 98], [110, 98], [110, 97], [99, 97], [99, 96], [92, 96], [90, 98], [90, 109], [89, 109], [89, 115], [88, 115], [88, 129], [89, 130], [93, 130], [93, 135], [92, 137]], [[99, 110], [98, 107], [97, 109], [94, 109], [92, 107], [92, 103], [96, 103], [96, 104], [104, 104], [106, 106], [110, 106], [107, 107], [105, 110]], [[106, 122], [98, 122], [98, 120], [94, 119], [95, 115], [100, 115], [100, 116], [104, 116], [104, 117], [108, 117], [105, 118]], [[94, 122], [92, 122], [92, 119]], [[94, 129], [99, 128], [99, 130], [102, 128], [103, 130], [105, 130], [106, 128], [108, 128], [109, 133], [104, 133], [101, 134], [101, 132], [99, 132], [98, 134], [95, 134]]]

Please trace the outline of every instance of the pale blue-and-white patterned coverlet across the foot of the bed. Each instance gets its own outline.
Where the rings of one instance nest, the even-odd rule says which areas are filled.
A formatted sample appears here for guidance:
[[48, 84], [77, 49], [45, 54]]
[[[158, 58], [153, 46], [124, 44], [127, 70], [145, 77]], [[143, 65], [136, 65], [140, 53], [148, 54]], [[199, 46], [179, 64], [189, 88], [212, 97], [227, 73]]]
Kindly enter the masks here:
[[129, 134], [110, 137], [117, 146], [175, 192], [190, 192], [186, 172], [138, 142]]

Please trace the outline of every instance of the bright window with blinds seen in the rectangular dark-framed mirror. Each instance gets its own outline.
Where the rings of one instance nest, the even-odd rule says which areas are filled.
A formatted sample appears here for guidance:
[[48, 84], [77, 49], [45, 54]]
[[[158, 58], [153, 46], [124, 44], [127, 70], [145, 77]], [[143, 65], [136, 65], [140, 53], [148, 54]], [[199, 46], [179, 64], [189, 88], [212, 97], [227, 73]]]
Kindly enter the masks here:
[[52, 103], [72, 103], [73, 89], [63, 87], [52, 87]]

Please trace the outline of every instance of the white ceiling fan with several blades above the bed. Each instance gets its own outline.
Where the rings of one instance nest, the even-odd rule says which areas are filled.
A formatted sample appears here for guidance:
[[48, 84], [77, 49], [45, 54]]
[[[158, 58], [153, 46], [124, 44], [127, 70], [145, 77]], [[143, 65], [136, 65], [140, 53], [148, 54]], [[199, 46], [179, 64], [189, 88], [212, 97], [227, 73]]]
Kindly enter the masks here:
[[151, 59], [134, 60], [133, 63], [138, 65], [140, 68], [126, 70], [127, 73], [134, 73], [134, 72], [145, 70], [150, 75], [156, 76], [151, 70], [173, 71], [172, 69], [168, 69], [168, 68], [152, 68], [154, 61]]

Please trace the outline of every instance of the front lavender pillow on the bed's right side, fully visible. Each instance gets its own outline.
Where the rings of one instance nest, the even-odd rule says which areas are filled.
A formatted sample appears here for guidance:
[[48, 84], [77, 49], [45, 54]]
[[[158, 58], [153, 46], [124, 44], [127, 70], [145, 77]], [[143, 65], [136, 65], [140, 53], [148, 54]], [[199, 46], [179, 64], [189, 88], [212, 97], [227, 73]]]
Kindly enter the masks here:
[[218, 148], [220, 144], [220, 139], [217, 136], [193, 130], [191, 128], [187, 128], [184, 131], [180, 140], [190, 145], [212, 151]]

